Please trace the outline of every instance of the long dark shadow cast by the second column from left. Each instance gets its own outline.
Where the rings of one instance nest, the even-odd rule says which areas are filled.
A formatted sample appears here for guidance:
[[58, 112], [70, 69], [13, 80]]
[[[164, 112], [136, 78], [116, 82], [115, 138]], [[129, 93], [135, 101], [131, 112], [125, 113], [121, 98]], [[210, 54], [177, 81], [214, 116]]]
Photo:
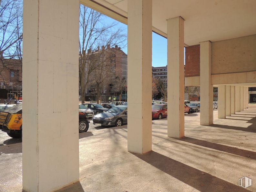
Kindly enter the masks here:
[[134, 155], [199, 191], [249, 191], [155, 151]]

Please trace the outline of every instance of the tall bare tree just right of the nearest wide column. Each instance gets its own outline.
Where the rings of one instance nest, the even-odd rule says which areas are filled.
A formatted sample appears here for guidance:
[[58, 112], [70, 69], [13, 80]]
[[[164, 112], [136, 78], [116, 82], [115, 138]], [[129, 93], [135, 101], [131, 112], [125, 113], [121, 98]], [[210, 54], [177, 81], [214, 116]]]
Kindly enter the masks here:
[[[80, 5], [80, 35], [79, 35], [79, 86], [81, 100], [84, 103], [85, 90], [88, 87], [92, 73], [105, 65], [109, 58], [105, 53], [107, 46], [126, 46], [126, 35], [117, 28], [117, 23], [105, 24], [101, 13]], [[101, 46], [105, 45], [105, 46]], [[101, 50], [99, 47], [101, 46]], [[97, 52], [97, 54], [93, 54]], [[99, 57], [97, 60], [92, 57]], [[104, 59], [102, 59], [104, 58]]]

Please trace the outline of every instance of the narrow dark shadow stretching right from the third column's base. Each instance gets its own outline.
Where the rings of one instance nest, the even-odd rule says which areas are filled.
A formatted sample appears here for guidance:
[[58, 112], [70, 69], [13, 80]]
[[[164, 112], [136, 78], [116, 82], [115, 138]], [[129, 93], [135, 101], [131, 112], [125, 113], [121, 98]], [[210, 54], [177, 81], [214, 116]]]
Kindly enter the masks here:
[[245, 149], [239, 149], [235, 147], [212, 143], [209, 141], [203, 141], [200, 139], [195, 139], [195, 138], [186, 137], [186, 136], [178, 140], [256, 160], [256, 152], [253, 152], [253, 151], [248, 151]]

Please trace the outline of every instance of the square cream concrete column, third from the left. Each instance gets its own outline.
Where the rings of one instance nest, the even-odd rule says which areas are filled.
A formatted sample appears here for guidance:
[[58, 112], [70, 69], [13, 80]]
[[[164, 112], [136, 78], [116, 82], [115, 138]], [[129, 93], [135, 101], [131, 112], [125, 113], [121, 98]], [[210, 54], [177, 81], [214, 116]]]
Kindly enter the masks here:
[[168, 136], [184, 136], [184, 19], [167, 20]]

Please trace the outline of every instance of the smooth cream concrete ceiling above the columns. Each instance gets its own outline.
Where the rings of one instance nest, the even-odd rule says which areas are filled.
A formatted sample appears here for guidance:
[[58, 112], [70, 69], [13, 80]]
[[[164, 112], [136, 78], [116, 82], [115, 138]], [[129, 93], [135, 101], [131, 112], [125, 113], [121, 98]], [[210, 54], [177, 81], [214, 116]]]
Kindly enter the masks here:
[[[96, 2], [127, 17], [128, 0], [81, 1]], [[152, 11], [153, 29], [163, 36], [167, 33], [167, 19], [183, 17], [187, 45], [256, 34], [256, 0], [153, 0]]]

